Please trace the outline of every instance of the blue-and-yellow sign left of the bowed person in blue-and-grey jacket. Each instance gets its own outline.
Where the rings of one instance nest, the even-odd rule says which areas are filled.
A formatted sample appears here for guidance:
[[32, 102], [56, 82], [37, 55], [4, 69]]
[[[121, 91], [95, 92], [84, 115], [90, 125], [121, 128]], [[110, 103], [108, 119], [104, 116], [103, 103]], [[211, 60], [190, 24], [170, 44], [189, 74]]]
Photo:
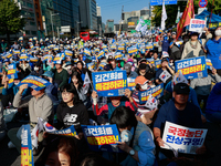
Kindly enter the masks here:
[[116, 124], [103, 126], [82, 125], [82, 131], [92, 151], [120, 152], [115, 142], [122, 142]]

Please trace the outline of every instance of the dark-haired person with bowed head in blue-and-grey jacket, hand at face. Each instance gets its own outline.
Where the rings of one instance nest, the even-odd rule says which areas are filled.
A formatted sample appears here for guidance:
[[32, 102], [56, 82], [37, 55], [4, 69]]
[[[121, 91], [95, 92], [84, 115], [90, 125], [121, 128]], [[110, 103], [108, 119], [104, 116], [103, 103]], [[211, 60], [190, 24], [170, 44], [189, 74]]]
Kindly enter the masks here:
[[129, 107], [117, 107], [112, 114], [110, 124], [117, 125], [122, 138], [122, 142], [117, 142], [117, 146], [127, 154], [125, 157], [119, 157], [122, 158], [119, 160], [122, 166], [154, 165], [155, 143], [152, 133], [144, 123], [137, 122]]

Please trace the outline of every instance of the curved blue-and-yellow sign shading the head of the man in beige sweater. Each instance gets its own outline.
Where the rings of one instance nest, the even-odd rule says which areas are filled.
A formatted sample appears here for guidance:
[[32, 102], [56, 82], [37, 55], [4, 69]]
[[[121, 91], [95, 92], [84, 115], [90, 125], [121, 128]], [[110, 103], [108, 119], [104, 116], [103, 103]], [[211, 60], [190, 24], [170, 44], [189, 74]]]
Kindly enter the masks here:
[[42, 79], [42, 77], [29, 75], [29, 76], [24, 77], [18, 84], [18, 86], [21, 86], [22, 84], [28, 84], [29, 87], [31, 87], [35, 91], [40, 91], [40, 90], [46, 87], [48, 85], [50, 85], [51, 83], [48, 82], [46, 80]]

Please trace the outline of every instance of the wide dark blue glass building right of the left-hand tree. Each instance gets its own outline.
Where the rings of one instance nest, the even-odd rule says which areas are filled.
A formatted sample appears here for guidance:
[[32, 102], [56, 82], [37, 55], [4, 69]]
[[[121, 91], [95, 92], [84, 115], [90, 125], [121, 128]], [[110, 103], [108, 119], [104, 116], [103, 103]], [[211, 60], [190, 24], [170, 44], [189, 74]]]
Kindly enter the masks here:
[[70, 25], [71, 33], [77, 33], [80, 21], [78, 0], [41, 0], [41, 12], [45, 33], [52, 37], [53, 31], [61, 32], [61, 27]]

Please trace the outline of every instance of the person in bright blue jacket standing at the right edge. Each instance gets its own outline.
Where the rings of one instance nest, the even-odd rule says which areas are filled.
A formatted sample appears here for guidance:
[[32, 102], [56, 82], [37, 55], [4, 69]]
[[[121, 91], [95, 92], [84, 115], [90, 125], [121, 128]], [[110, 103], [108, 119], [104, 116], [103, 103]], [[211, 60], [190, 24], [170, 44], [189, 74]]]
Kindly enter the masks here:
[[211, 60], [213, 68], [221, 76], [221, 27], [218, 27], [214, 31], [214, 38], [206, 43], [204, 52], [207, 58]]

